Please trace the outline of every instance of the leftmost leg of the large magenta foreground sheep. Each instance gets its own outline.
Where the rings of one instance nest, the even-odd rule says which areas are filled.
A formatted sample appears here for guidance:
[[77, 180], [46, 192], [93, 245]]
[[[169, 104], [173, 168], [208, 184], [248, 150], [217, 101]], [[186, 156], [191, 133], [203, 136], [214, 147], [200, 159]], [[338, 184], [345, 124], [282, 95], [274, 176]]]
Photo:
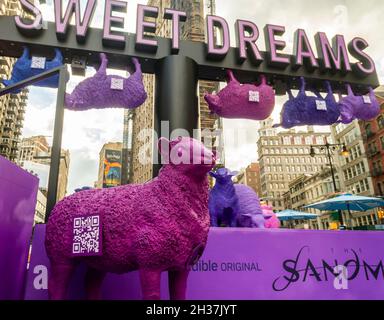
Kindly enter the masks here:
[[73, 264], [52, 264], [48, 280], [48, 295], [50, 300], [65, 300], [69, 280], [75, 269]]

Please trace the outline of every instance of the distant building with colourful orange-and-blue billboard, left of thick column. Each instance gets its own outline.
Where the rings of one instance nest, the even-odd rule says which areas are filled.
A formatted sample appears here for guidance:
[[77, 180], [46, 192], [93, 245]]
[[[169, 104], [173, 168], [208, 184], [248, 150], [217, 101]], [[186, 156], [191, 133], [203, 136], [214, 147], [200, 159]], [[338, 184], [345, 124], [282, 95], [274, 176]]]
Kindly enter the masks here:
[[121, 142], [109, 142], [104, 144], [99, 153], [99, 174], [96, 188], [110, 188], [121, 185], [122, 168]]

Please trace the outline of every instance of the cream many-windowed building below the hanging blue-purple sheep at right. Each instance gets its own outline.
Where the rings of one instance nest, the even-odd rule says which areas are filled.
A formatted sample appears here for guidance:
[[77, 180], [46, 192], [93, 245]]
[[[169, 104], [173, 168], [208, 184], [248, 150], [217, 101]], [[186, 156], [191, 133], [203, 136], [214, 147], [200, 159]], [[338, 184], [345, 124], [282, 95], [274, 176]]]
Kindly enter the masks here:
[[311, 157], [310, 148], [325, 144], [329, 138], [329, 133], [315, 133], [310, 127], [307, 131], [278, 133], [272, 119], [262, 121], [257, 142], [261, 198], [276, 211], [284, 210], [289, 183], [304, 174], [316, 174], [327, 166], [325, 154]]

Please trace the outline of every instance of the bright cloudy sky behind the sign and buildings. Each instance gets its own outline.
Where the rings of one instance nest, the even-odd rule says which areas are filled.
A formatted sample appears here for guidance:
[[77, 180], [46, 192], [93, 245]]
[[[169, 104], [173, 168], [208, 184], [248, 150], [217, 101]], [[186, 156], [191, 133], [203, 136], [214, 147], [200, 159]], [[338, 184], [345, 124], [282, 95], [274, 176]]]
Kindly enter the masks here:
[[[40, 5], [43, 17], [48, 21], [53, 21], [52, 2], [53, 0], [46, 0], [45, 5]], [[91, 23], [93, 27], [102, 25], [104, 0], [97, 2], [98, 6]], [[138, 3], [146, 2], [128, 1], [125, 31], [135, 33], [136, 6]], [[366, 51], [374, 58], [380, 82], [384, 84], [382, 12], [384, 12], [382, 0], [216, 0], [216, 14], [228, 21], [233, 46], [236, 19], [253, 21], [260, 31], [268, 23], [285, 26], [284, 40], [287, 41], [287, 48], [284, 53], [291, 53], [294, 31], [298, 28], [305, 29], [311, 41], [319, 31], [326, 32], [329, 38], [335, 34], [343, 34], [347, 41], [359, 36], [370, 44]], [[265, 49], [262, 32], [259, 48]], [[92, 68], [88, 69], [87, 76], [93, 75], [94, 72]], [[109, 71], [109, 73], [119, 72]], [[83, 79], [72, 76], [67, 92], [71, 92]], [[273, 113], [276, 123], [279, 122], [279, 114], [285, 100], [286, 97], [277, 98]], [[48, 141], [51, 141], [55, 103], [55, 90], [30, 88], [23, 137], [45, 135]], [[257, 161], [257, 130], [256, 121], [224, 120], [225, 160], [228, 168], [240, 170]], [[235, 139], [231, 139], [233, 133]], [[65, 111], [62, 145], [71, 153], [69, 193], [78, 187], [93, 186], [98, 174], [100, 149], [106, 142], [121, 141], [122, 135], [123, 110]]]

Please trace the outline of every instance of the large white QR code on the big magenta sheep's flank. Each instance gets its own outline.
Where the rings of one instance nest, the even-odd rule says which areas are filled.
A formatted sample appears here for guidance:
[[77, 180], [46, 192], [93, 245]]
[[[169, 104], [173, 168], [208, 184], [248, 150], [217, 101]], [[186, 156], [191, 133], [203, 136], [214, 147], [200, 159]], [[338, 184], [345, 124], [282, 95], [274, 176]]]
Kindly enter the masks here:
[[74, 256], [99, 256], [101, 250], [100, 216], [84, 216], [73, 219]]

